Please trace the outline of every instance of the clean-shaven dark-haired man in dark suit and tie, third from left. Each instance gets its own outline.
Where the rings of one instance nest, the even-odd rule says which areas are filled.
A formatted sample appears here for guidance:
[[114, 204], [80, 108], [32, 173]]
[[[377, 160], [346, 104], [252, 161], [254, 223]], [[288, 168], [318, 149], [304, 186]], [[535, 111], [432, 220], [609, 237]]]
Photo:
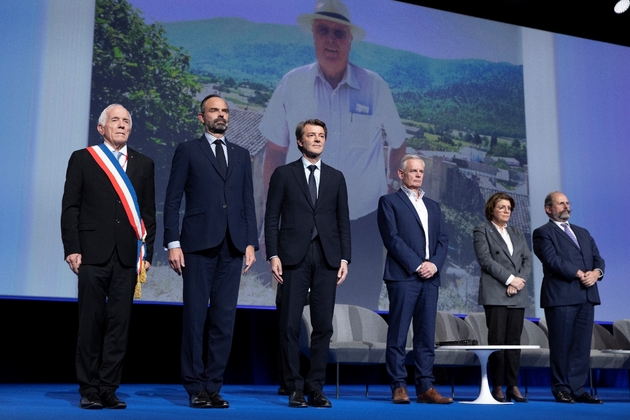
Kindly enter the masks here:
[[[282, 284], [280, 351], [290, 407], [331, 407], [322, 394], [333, 334], [335, 294], [348, 274], [350, 215], [343, 174], [322, 163], [326, 124], [307, 120], [295, 137], [302, 157], [276, 168], [269, 182], [265, 244], [271, 272]], [[311, 368], [300, 376], [299, 337], [310, 289]]]

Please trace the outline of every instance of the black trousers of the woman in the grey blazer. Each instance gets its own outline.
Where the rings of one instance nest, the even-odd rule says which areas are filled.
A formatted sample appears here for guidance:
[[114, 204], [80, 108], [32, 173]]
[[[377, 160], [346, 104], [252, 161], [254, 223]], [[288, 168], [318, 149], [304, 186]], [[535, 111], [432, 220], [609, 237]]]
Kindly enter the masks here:
[[[488, 344], [521, 344], [525, 308], [484, 305]], [[520, 350], [500, 350], [490, 355], [488, 361], [492, 386], [518, 386], [518, 370], [521, 364]]]

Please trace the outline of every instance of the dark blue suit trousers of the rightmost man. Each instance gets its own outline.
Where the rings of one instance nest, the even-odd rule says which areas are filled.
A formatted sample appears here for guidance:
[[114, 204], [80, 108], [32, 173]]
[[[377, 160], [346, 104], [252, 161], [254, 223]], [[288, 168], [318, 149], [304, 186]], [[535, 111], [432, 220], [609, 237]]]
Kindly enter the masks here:
[[591, 302], [545, 308], [549, 329], [551, 390], [584, 394], [591, 356], [595, 306]]

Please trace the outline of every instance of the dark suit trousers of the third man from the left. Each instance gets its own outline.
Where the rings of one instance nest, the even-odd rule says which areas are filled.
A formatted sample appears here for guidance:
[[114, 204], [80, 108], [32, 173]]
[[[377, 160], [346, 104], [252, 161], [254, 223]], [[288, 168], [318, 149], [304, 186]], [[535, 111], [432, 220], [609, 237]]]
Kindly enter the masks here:
[[[335, 309], [337, 272], [339, 268], [326, 263], [320, 241], [311, 241], [300, 264], [283, 266], [280, 305], [281, 371], [287, 391], [305, 393], [320, 391], [326, 379], [328, 348], [333, 335], [332, 318]], [[309, 296], [313, 332], [311, 333], [311, 367], [300, 375], [300, 330], [302, 311]]]

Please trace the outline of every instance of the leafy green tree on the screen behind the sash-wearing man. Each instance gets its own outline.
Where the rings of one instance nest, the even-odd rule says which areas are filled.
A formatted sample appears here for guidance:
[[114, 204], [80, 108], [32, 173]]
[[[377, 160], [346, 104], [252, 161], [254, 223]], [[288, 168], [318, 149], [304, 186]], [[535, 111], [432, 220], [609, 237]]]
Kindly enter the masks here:
[[158, 209], [174, 148], [201, 129], [195, 100], [201, 85], [189, 72], [190, 56], [169, 45], [164, 33], [126, 0], [96, 1], [89, 143], [102, 141], [94, 127], [107, 105], [127, 108], [133, 119], [130, 145], [155, 161]]

